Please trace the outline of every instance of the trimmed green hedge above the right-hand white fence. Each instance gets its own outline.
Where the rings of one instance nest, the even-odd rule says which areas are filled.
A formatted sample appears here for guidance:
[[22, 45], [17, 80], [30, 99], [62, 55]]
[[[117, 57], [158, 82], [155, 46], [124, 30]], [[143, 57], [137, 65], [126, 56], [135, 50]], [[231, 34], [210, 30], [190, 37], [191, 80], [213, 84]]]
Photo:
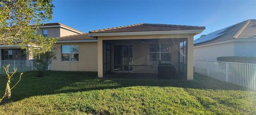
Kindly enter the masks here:
[[238, 63], [255, 63], [256, 64], [256, 57], [222, 56], [222, 57], [217, 57], [217, 61], [238, 62]]

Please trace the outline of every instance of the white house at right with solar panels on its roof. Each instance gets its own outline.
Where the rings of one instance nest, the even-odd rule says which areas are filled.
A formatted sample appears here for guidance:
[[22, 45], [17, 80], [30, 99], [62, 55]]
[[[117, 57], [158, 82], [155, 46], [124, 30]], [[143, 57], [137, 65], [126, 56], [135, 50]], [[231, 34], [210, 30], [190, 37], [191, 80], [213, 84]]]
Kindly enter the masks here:
[[217, 60], [220, 56], [256, 57], [256, 20], [246, 20], [194, 41], [194, 59]]

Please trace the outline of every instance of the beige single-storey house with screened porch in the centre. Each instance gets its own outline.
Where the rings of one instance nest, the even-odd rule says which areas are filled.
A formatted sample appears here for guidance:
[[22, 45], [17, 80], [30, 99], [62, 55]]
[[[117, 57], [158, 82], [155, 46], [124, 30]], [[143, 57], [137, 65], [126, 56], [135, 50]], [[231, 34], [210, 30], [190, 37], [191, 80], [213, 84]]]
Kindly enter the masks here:
[[123, 73], [149, 77], [157, 75], [161, 61], [171, 64], [180, 79], [193, 80], [194, 36], [204, 29], [139, 23], [60, 37], [51, 70], [98, 71], [98, 77]]

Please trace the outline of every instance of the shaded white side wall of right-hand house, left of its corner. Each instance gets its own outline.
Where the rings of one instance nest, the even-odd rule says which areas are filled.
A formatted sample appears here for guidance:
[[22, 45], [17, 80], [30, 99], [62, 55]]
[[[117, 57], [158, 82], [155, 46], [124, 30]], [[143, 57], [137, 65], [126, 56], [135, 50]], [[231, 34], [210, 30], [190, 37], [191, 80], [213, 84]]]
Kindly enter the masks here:
[[234, 43], [223, 43], [194, 48], [195, 60], [217, 60], [219, 56], [234, 56]]

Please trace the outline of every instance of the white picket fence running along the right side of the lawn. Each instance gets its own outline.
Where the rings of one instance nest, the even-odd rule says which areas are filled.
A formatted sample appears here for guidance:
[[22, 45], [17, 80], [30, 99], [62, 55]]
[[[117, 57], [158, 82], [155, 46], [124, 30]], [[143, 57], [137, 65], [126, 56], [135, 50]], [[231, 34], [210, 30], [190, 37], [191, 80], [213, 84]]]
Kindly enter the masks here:
[[256, 64], [196, 60], [195, 72], [256, 90]]

